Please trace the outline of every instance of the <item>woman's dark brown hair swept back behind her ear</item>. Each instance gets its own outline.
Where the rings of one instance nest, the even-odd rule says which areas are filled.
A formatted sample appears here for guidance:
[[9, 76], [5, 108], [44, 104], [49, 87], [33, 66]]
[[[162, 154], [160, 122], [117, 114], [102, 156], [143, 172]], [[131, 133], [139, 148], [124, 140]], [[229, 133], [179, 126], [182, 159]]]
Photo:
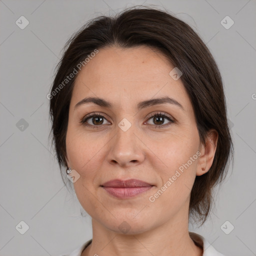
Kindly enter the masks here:
[[[201, 221], [202, 225], [211, 208], [213, 187], [227, 174], [230, 157], [233, 158], [233, 144], [218, 67], [199, 35], [168, 11], [136, 5], [124, 9], [114, 17], [98, 16], [90, 19], [71, 35], [56, 66], [57, 71], [48, 94], [50, 96], [47, 95], [50, 99], [52, 123], [50, 134], [53, 135], [51, 145], [54, 143], [61, 171], [61, 166], [67, 167], [65, 137], [69, 104], [77, 74], [72, 78], [68, 75], [74, 73], [74, 70], [78, 72], [78, 63], [84, 66], [84, 59], [95, 52], [95, 49], [100, 51], [100, 48], [110, 46], [129, 48], [141, 45], [159, 50], [171, 64], [181, 70], [180, 79], [192, 103], [200, 142], [206, 145], [209, 129], [213, 128], [218, 132], [212, 165], [206, 173], [195, 177], [190, 193], [189, 217]], [[62, 174], [61, 172], [64, 181]]]

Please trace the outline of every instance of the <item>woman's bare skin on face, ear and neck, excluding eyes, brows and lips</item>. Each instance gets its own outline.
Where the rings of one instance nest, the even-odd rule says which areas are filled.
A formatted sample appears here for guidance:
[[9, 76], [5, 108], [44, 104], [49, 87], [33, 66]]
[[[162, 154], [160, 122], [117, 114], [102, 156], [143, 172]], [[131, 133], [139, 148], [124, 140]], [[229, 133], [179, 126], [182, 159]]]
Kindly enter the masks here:
[[[188, 94], [181, 79], [169, 75], [173, 67], [148, 46], [107, 47], [99, 49], [77, 75], [69, 107], [66, 161], [80, 175], [74, 190], [92, 218], [92, 243], [82, 256], [203, 253], [188, 234], [189, 198], [196, 175], [203, 175], [212, 164], [218, 134], [211, 130], [211, 143], [200, 143]], [[113, 106], [87, 103], [74, 109], [88, 96], [103, 98]], [[177, 100], [184, 110], [169, 103], [136, 109], [142, 100], [164, 96]], [[159, 111], [174, 122], [149, 117]], [[93, 112], [103, 115], [103, 121], [91, 117], [87, 120], [91, 126], [79, 122]], [[126, 131], [118, 126], [123, 118], [131, 123]], [[160, 124], [169, 125], [158, 127]], [[154, 202], [149, 201], [197, 151], [197, 159]], [[154, 186], [119, 199], [100, 187], [115, 178], [137, 178]], [[118, 228], [123, 221], [130, 228], [127, 233]]]

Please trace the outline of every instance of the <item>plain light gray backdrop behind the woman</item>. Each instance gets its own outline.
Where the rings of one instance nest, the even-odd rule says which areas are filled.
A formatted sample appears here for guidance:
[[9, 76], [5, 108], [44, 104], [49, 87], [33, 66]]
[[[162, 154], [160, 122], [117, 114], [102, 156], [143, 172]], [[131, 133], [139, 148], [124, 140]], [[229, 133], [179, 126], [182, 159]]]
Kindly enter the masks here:
[[[255, 0], [0, 0], [0, 255], [59, 255], [92, 237], [90, 216], [80, 216], [50, 148], [46, 94], [69, 36], [90, 18], [134, 4], [164, 6], [189, 23], [219, 66], [233, 171], [230, 165], [211, 217], [189, 228], [227, 256], [256, 255]], [[15, 24], [21, 15], [29, 21], [24, 29]], [[226, 15], [234, 21], [229, 29], [220, 23]], [[29, 226], [24, 234], [15, 228], [21, 220]], [[229, 234], [221, 230], [227, 220]]]

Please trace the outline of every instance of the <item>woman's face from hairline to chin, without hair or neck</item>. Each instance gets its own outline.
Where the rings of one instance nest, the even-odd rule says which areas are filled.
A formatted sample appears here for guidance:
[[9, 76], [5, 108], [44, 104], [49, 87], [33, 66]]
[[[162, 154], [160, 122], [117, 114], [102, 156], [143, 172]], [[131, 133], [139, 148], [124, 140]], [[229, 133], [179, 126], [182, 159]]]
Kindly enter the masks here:
[[[147, 46], [108, 47], [99, 49], [77, 75], [66, 159], [80, 175], [73, 183], [80, 204], [110, 230], [138, 233], [170, 219], [184, 220], [195, 176], [211, 165], [205, 165], [188, 94], [181, 79], [169, 75], [173, 68]], [[98, 100], [75, 107], [88, 97], [108, 104]], [[171, 99], [162, 103], [151, 101], [167, 97]], [[86, 119], [88, 114], [96, 116]], [[102, 186], [112, 179], [150, 185]]]

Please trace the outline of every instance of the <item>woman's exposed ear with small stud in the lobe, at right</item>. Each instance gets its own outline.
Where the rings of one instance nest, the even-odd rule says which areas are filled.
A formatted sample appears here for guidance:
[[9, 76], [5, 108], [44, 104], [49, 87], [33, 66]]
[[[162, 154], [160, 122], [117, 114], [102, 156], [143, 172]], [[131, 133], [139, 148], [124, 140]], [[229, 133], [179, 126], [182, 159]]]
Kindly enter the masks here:
[[217, 148], [218, 132], [215, 129], [210, 129], [207, 132], [205, 145], [200, 145], [200, 157], [197, 164], [196, 176], [200, 176], [207, 172], [212, 165], [215, 151]]

